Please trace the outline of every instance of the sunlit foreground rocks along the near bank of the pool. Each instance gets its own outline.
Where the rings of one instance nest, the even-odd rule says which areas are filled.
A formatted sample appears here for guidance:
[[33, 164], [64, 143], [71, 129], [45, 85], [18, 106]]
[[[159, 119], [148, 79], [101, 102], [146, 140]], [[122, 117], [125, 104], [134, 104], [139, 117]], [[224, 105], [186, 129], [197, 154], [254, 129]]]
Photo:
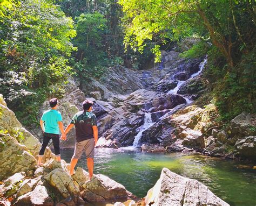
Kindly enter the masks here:
[[97, 174], [88, 182], [88, 173], [80, 167], [70, 176], [70, 165], [64, 160], [57, 162], [49, 148], [43, 166], [38, 166], [41, 144], [18, 122], [2, 95], [0, 111], [1, 205], [228, 205], [204, 184], [166, 168], [156, 186], [141, 200], [107, 176]]

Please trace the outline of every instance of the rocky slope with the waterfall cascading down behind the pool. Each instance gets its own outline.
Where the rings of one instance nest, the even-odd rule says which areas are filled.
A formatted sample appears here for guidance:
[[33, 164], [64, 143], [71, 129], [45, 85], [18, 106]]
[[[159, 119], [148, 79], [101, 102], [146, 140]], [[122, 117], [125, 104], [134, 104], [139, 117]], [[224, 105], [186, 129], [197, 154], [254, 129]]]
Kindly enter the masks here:
[[[98, 147], [132, 146], [150, 152], [200, 152], [255, 160], [255, 115], [242, 113], [225, 124], [217, 121], [218, 111], [204, 77], [207, 57], [187, 60], [175, 51], [162, 56], [161, 69], [110, 68], [100, 79], [87, 80], [87, 86], [70, 77], [59, 106], [64, 125], [90, 99], [98, 119]], [[46, 109], [47, 101], [39, 117]], [[42, 137], [39, 127], [31, 125], [28, 130]], [[73, 129], [62, 147], [73, 147], [74, 137]]]

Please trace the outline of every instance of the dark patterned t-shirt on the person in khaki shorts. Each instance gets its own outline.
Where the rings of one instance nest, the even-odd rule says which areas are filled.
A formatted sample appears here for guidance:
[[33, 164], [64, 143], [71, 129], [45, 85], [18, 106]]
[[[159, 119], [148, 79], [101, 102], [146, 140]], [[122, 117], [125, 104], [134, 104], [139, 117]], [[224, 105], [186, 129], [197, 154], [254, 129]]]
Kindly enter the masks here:
[[83, 141], [93, 137], [92, 126], [97, 126], [97, 118], [94, 113], [89, 111], [79, 111], [71, 119], [71, 124], [76, 126], [76, 141]]

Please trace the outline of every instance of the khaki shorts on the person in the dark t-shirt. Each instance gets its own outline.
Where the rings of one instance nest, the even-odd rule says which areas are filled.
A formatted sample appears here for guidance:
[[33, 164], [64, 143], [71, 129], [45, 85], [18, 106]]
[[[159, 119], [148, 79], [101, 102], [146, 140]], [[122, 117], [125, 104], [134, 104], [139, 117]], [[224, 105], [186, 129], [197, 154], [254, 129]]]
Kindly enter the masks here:
[[86, 139], [84, 141], [76, 142], [75, 151], [72, 158], [80, 159], [81, 155], [85, 151], [86, 159], [94, 158], [94, 147], [95, 147], [95, 139]]

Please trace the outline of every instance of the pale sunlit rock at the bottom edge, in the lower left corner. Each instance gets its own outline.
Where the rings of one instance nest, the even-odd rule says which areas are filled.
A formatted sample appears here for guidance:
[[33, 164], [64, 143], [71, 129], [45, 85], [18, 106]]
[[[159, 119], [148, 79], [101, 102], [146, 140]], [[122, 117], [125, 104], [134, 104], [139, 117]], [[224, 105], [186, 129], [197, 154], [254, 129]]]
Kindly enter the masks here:
[[36, 188], [25, 195], [18, 197], [14, 205], [45, 205], [53, 206], [53, 200], [49, 196], [47, 189], [41, 185], [37, 184]]

